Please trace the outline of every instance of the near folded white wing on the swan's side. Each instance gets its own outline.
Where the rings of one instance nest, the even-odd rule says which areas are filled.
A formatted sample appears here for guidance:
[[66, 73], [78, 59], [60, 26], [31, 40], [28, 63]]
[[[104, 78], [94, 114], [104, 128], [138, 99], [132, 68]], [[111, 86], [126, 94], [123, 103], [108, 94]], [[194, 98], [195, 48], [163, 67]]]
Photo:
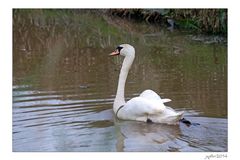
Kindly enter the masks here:
[[143, 97], [132, 98], [123, 107], [125, 114], [136, 116], [158, 114], [163, 112], [165, 108], [161, 101], [148, 100]]

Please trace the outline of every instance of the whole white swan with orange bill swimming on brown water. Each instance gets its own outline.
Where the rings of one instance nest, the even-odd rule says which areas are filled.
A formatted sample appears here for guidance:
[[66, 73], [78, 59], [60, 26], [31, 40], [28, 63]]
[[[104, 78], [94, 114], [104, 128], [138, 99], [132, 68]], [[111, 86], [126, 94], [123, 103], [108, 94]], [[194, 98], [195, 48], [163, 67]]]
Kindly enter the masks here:
[[161, 97], [152, 90], [145, 90], [139, 97], [134, 97], [125, 102], [124, 88], [133, 60], [135, 58], [135, 49], [129, 44], [119, 45], [110, 56], [125, 56], [119, 75], [117, 94], [113, 104], [113, 111], [117, 118], [125, 120], [136, 120], [143, 122], [178, 124], [183, 116], [182, 112], [176, 112], [167, 107], [164, 103], [170, 99], [161, 99]]

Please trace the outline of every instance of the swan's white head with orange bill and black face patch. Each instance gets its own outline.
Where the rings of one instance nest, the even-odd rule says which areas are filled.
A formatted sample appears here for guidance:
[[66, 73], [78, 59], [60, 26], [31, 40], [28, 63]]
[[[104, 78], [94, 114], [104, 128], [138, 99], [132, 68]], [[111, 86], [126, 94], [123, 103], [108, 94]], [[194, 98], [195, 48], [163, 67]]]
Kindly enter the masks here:
[[115, 51], [113, 51], [109, 55], [110, 56], [122, 55], [122, 56], [126, 56], [126, 57], [128, 57], [128, 56], [134, 57], [135, 49], [130, 44], [121, 44], [121, 45], [117, 46]]

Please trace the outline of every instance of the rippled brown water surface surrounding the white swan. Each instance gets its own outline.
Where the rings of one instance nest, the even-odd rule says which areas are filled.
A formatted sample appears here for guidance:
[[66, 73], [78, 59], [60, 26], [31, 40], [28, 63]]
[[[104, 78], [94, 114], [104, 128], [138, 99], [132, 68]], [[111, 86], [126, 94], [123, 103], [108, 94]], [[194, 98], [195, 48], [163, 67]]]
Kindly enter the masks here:
[[[13, 151], [227, 151], [227, 46], [192, 37], [95, 11], [15, 10]], [[126, 98], [153, 89], [200, 126], [115, 119], [122, 58], [107, 55], [121, 43], [136, 48]]]

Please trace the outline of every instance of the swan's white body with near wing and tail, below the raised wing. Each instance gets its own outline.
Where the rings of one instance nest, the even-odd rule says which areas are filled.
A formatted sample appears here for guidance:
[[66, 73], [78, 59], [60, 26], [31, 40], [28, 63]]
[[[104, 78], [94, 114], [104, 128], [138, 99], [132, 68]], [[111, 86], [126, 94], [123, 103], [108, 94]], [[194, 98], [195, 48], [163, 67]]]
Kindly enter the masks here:
[[155, 123], [177, 124], [183, 112], [166, 107], [161, 100], [135, 97], [130, 99], [118, 112], [118, 118]]

